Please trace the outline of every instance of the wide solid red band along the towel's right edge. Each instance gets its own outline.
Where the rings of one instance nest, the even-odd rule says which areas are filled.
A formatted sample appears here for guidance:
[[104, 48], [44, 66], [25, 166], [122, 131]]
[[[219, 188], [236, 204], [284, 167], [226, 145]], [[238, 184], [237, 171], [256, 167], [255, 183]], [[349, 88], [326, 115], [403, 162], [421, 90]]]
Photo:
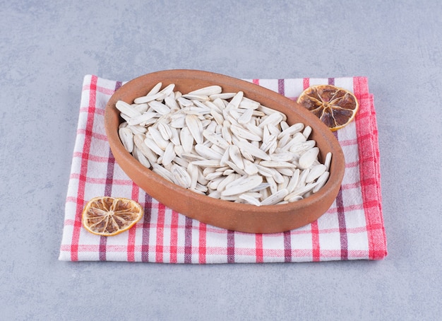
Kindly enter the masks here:
[[362, 200], [369, 240], [369, 259], [383, 259], [387, 255], [387, 251], [380, 198], [378, 133], [367, 78], [354, 77], [353, 90], [359, 101], [359, 111], [355, 122], [359, 145]]

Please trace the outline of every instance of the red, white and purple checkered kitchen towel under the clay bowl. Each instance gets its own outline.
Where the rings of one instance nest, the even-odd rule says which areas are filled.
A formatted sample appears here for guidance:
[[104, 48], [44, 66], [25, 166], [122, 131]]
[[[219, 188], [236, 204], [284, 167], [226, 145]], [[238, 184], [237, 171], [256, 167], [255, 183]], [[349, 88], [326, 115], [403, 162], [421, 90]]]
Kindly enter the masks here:
[[[383, 259], [378, 131], [364, 77], [248, 79], [295, 100], [314, 84], [329, 83], [357, 96], [355, 120], [335, 132], [345, 153], [345, 177], [333, 205], [318, 221], [285, 233], [225, 230], [172, 211], [143, 192], [115, 162], [104, 132], [104, 107], [123, 83], [85, 76], [66, 197], [60, 260], [162, 263], [306, 262]], [[109, 238], [81, 225], [92, 197], [126, 197], [145, 208], [134, 228]]]

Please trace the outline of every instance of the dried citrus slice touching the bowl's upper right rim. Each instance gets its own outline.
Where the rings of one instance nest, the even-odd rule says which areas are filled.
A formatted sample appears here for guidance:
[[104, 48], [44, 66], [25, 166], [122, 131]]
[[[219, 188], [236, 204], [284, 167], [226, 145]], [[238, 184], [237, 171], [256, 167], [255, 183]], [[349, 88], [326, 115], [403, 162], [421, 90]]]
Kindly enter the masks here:
[[318, 116], [332, 132], [349, 124], [359, 109], [353, 93], [332, 85], [307, 88], [299, 95], [297, 103]]

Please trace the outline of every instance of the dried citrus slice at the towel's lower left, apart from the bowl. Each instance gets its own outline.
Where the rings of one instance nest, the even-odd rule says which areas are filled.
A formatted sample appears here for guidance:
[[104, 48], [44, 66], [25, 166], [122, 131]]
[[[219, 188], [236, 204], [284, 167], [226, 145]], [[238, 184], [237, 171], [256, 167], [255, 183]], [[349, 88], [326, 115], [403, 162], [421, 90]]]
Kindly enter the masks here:
[[90, 233], [112, 236], [129, 230], [143, 214], [143, 207], [131, 199], [95, 197], [83, 209], [82, 220]]

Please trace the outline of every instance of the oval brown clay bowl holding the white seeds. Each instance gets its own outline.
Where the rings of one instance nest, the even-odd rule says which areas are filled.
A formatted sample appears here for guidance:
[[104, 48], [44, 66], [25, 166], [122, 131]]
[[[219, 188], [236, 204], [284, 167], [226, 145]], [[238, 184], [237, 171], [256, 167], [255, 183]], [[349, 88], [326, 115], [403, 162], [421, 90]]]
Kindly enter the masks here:
[[[323, 161], [325, 154], [329, 151], [333, 153], [328, 182], [319, 192], [299, 202], [254, 206], [197, 194], [153, 173], [136, 161], [121, 144], [117, 129], [123, 119], [119, 116], [115, 103], [117, 100], [133, 103], [134, 98], [146, 95], [150, 88], [160, 81], [163, 88], [169, 83], [174, 83], [176, 85], [174, 91], [181, 91], [181, 93], [210, 85], [222, 86], [224, 92], [243, 91], [245, 97], [284, 112], [287, 115], [287, 123], [302, 122], [310, 125], [313, 129], [311, 139], [316, 141], [316, 146], [321, 151], [320, 161]], [[345, 171], [344, 155], [338, 140], [335, 139], [330, 129], [325, 127], [311, 112], [278, 93], [221, 74], [196, 70], [167, 70], [135, 78], [121, 86], [112, 95], [106, 106], [104, 122], [115, 160], [133, 182], [169, 208], [203, 223], [228, 230], [247, 233], [279, 233], [316, 221], [333, 204]]]

